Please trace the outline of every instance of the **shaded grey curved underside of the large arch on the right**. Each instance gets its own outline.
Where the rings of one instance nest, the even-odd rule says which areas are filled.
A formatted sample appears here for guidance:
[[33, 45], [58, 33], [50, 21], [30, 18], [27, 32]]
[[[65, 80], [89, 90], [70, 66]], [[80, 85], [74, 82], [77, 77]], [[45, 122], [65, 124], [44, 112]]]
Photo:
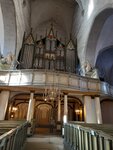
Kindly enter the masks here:
[[[113, 8], [105, 8], [100, 13], [98, 13], [98, 15], [96, 15], [92, 23], [86, 46], [86, 60], [89, 60], [92, 66], [95, 65], [95, 61], [99, 52], [99, 49], [97, 49], [99, 37], [101, 35], [104, 24], [111, 15], [113, 15]], [[107, 36], [106, 39], [108, 39]]]

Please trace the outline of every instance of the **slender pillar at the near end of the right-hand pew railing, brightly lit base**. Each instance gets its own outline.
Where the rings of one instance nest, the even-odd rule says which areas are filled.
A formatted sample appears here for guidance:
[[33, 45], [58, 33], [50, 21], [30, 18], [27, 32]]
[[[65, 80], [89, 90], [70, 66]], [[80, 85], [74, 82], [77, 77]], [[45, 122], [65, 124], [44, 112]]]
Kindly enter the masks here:
[[67, 123], [68, 117], [68, 100], [67, 100], [67, 94], [64, 95], [64, 116], [63, 116], [63, 123]]

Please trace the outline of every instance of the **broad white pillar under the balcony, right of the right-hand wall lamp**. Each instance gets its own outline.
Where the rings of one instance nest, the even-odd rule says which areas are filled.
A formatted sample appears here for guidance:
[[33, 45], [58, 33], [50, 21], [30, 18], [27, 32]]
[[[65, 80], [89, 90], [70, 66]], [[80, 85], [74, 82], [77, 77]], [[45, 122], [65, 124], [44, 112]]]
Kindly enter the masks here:
[[91, 96], [84, 96], [84, 119], [86, 123], [97, 123], [95, 101]]

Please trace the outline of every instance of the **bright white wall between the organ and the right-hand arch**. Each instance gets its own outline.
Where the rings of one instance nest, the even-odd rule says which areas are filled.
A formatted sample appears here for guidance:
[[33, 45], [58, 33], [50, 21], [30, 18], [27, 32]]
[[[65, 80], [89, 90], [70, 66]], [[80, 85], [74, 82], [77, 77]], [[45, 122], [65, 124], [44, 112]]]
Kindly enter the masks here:
[[88, 37], [90, 35], [90, 31], [91, 31], [91, 28], [93, 26], [96, 16], [98, 16], [98, 14], [106, 8], [113, 8], [113, 0], [104, 0], [104, 1], [103, 0], [89, 0], [89, 1], [85, 1], [84, 4], [85, 5], [84, 5], [83, 20], [82, 22], [81, 21], [78, 22], [78, 24], [80, 24], [81, 26], [80, 26], [77, 36], [76, 34], [74, 36], [75, 38], [77, 38], [77, 41], [78, 41], [77, 49], [78, 49], [78, 55], [79, 55], [80, 61], [84, 62], [86, 59], [89, 59], [89, 61], [91, 61], [91, 64], [94, 65], [96, 48], [95, 48], [95, 52], [92, 53], [91, 52], [92, 49], [90, 47], [90, 49], [88, 50], [88, 53], [90, 52], [91, 54], [88, 55], [88, 57], [86, 57], [86, 54], [88, 54], [86, 53]]

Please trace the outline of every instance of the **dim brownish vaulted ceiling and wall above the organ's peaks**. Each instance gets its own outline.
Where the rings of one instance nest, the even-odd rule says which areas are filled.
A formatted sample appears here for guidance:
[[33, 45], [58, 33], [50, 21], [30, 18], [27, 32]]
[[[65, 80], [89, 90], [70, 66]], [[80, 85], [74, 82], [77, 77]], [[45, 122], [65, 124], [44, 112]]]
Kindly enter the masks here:
[[31, 27], [37, 37], [53, 23], [58, 38], [69, 39], [76, 2], [74, 0], [31, 0]]

